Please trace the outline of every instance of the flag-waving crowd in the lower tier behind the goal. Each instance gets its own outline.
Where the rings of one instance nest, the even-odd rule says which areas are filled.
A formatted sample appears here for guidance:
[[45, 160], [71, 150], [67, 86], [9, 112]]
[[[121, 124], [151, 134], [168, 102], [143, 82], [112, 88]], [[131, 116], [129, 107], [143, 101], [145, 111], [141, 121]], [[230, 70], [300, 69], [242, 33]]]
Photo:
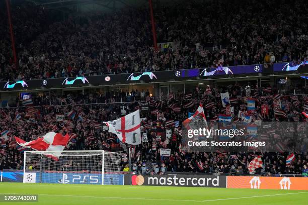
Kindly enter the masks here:
[[[296, 152], [295, 160], [286, 165], [286, 156], [281, 152], [260, 153], [258, 150], [243, 152], [185, 152], [181, 147], [182, 122], [189, 113], [196, 111], [199, 103], [203, 105], [208, 122], [218, 120], [219, 114], [228, 114], [223, 108], [221, 92], [228, 92], [230, 106], [234, 109], [233, 121], [242, 121], [242, 113], [250, 115], [252, 122], [286, 121], [304, 122], [302, 112], [308, 112], [306, 95], [278, 94], [276, 87], [258, 88], [256, 85], [230, 84], [228, 86], [196, 87], [191, 93], [169, 93], [158, 99], [145, 92], [144, 98], [124, 104], [105, 103], [108, 93], [91, 95], [42, 95], [33, 98], [33, 104], [23, 107], [23, 100], [17, 99], [18, 108], [6, 108], [0, 111], [0, 170], [22, 169], [24, 149], [13, 139], [18, 136], [31, 141], [47, 132], [60, 132], [70, 136], [68, 150], [125, 150], [128, 145], [120, 143], [116, 136], [108, 133], [103, 121], [109, 121], [140, 109], [142, 143], [132, 148], [131, 171], [142, 174], [162, 174], [165, 172], [200, 172], [215, 174], [248, 174], [248, 163], [256, 155], [261, 155], [264, 166], [256, 173], [265, 175], [301, 174], [308, 165], [308, 154], [303, 147]], [[136, 92], [136, 91], [134, 91]], [[121, 93], [121, 92], [119, 92]], [[256, 112], [247, 112], [247, 97], [254, 97]], [[96, 98], [102, 104], [96, 104]], [[87, 99], [94, 99], [93, 105], [80, 105]], [[106, 99], [105, 99], [106, 100]], [[50, 101], [52, 104], [50, 105]], [[29, 102], [29, 101], [28, 101]], [[91, 101], [87, 101], [91, 103]], [[261, 109], [262, 108], [262, 109]], [[263, 112], [264, 111], [264, 112]], [[279, 111], [279, 112], [277, 112]], [[262, 112], [262, 113], [261, 113]], [[274, 137], [271, 132], [268, 137]], [[171, 156], [161, 158], [160, 148], [170, 148]], [[128, 163], [126, 153], [122, 155], [122, 165]]]

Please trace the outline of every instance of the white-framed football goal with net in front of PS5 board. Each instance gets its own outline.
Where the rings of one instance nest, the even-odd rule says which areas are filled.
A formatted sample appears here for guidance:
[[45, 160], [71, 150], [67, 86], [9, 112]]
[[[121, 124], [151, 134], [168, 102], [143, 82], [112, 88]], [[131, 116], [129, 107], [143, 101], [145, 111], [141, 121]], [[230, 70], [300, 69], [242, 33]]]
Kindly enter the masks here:
[[25, 151], [24, 183], [123, 184], [122, 152]]

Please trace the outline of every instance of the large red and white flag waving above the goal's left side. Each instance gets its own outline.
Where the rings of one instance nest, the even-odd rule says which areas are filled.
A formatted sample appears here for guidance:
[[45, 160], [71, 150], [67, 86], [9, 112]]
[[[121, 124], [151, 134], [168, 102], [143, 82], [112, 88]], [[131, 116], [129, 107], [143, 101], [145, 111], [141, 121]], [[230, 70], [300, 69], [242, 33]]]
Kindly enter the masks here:
[[63, 136], [60, 133], [49, 132], [42, 138], [38, 138], [30, 142], [26, 142], [18, 137], [15, 137], [15, 140], [20, 146], [25, 148], [31, 148], [38, 151], [50, 151], [47, 152], [46, 155], [54, 160], [58, 160], [61, 152], [52, 151], [63, 151], [69, 140], [69, 136], [68, 134]]

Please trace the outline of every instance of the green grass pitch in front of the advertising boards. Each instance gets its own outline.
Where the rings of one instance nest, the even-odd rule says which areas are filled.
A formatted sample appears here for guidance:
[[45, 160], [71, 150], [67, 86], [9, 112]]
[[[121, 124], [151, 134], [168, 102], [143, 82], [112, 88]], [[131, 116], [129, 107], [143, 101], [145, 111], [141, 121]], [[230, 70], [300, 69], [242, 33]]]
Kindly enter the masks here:
[[[308, 204], [308, 191], [202, 187], [0, 183], [0, 194], [38, 194], [26, 204]], [[5, 203], [3, 203], [5, 204]], [[21, 202], [10, 202], [23, 204]], [[0, 202], [1, 205], [1, 202]]]

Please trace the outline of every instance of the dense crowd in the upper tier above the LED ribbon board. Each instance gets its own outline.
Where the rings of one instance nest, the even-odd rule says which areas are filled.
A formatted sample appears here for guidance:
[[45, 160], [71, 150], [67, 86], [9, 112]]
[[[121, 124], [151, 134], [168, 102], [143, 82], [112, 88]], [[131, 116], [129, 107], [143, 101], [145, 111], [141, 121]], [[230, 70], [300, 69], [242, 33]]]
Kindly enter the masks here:
[[[148, 9], [69, 15], [55, 22], [51, 19], [62, 14], [29, 4], [12, 8], [18, 68], [9, 32], [0, 31], [2, 81], [296, 63], [308, 55], [304, 0], [185, 1], [158, 7], [159, 50], [152, 48]], [[0, 15], [1, 27], [8, 28], [6, 13]]]

